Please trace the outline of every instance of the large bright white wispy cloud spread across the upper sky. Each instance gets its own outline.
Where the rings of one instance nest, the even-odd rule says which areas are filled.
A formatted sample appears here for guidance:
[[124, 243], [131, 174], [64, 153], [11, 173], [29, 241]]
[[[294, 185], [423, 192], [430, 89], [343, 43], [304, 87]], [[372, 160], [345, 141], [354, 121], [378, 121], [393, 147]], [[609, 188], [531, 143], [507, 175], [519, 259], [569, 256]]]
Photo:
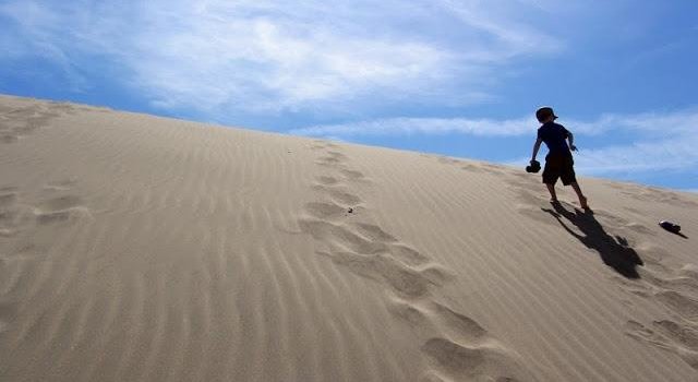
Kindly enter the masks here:
[[[268, 112], [376, 99], [462, 104], [486, 98], [488, 73], [540, 52], [541, 46], [559, 46], [514, 16], [533, 7], [426, 0], [113, 5], [10, 0], [0, 5], [0, 15], [17, 26], [12, 50], [5, 50], [14, 57], [22, 48], [23, 55], [35, 55], [39, 47], [39, 55], [75, 72], [98, 57], [123, 68], [128, 82], [160, 107]], [[453, 92], [456, 86], [459, 92]]]

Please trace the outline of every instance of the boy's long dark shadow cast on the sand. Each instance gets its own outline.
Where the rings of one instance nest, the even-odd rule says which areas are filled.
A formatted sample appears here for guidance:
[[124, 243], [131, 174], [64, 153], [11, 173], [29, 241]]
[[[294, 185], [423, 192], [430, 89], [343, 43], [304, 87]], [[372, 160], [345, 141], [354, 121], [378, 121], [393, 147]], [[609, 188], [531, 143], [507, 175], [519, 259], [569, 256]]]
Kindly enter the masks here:
[[[617, 273], [628, 278], [639, 278], [640, 275], [635, 268], [636, 265], [643, 265], [642, 259], [637, 252], [628, 246], [628, 241], [625, 238], [616, 236], [615, 238], [606, 234], [603, 226], [595, 219], [593, 212], [587, 210], [581, 212], [575, 210], [570, 212], [565, 210], [562, 204], [553, 204], [553, 210], [541, 208], [544, 212], [553, 215], [555, 219], [565, 228], [569, 235], [579, 239], [588, 248], [599, 252], [601, 260], [604, 264], [613, 267]], [[571, 224], [577, 226], [581, 230], [582, 235], [578, 235], [574, 230], [569, 229], [562, 217], [565, 217]]]

